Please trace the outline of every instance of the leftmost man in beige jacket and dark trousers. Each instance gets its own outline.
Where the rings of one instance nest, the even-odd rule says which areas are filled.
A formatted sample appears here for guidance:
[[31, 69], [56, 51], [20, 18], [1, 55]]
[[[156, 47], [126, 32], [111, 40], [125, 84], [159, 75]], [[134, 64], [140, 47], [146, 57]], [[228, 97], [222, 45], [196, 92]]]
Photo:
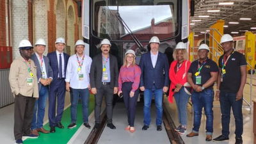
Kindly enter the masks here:
[[36, 66], [30, 59], [33, 52], [31, 43], [28, 40], [21, 40], [19, 51], [20, 57], [12, 62], [9, 81], [15, 95], [14, 137], [16, 143], [23, 143], [22, 136], [38, 138], [30, 131], [35, 100], [38, 99], [38, 84]]

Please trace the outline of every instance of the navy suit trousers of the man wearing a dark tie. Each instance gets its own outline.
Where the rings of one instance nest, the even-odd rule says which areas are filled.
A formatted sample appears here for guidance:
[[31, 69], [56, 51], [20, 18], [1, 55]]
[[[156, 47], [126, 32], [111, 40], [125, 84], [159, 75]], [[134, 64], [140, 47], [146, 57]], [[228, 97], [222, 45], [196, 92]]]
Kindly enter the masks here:
[[[65, 103], [65, 79], [57, 79], [54, 83], [51, 83], [49, 91], [49, 125], [54, 127], [61, 121]], [[56, 97], [57, 97], [57, 116], [56, 115]]]

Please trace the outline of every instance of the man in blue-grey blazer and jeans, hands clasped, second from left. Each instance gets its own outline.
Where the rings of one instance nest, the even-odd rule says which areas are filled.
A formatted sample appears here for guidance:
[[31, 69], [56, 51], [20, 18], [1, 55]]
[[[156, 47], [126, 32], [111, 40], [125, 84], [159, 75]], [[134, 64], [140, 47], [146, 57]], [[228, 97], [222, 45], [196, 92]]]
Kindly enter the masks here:
[[[44, 56], [45, 51], [45, 41], [40, 38], [36, 41], [35, 53], [31, 56], [31, 60], [34, 61], [36, 68], [36, 76], [38, 79], [38, 92], [39, 98], [35, 102], [33, 121], [31, 124], [31, 132], [39, 136], [38, 132], [48, 134], [43, 127], [44, 124], [44, 114], [45, 105], [48, 97], [48, 85], [52, 81], [53, 72], [49, 63], [49, 58]], [[37, 111], [38, 109], [38, 111]], [[36, 116], [37, 111], [37, 116]], [[37, 120], [36, 120], [37, 117]]]

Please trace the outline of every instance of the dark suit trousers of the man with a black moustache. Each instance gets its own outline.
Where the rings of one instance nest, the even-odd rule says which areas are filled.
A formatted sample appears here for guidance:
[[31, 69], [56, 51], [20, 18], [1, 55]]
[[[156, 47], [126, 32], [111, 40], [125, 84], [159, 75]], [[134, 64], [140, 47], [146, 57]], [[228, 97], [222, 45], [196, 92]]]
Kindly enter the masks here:
[[113, 94], [114, 88], [110, 88], [110, 84], [102, 84], [101, 88], [97, 88], [97, 93], [95, 95], [95, 123], [100, 123], [100, 111], [103, 96], [105, 97], [106, 109], [107, 109], [107, 123], [112, 123], [113, 114]]

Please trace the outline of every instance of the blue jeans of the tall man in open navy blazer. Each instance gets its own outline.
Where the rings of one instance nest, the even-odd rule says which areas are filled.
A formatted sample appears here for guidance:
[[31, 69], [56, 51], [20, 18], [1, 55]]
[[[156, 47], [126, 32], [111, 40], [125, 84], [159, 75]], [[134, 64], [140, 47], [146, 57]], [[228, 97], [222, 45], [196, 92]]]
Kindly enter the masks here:
[[155, 84], [151, 89], [145, 89], [144, 92], [144, 124], [150, 125], [150, 107], [152, 95], [154, 93], [156, 104], [156, 125], [162, 125], [163, 122], [163, 88], [157, 89]]

